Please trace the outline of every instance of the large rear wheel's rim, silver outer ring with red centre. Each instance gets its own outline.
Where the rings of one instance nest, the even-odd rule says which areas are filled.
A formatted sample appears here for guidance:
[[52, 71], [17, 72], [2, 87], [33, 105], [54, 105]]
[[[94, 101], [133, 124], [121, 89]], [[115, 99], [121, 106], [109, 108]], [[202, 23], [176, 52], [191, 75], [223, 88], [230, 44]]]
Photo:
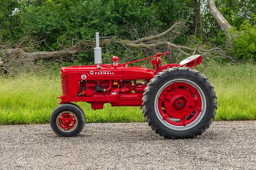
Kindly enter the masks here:
[[154, 108], [164, 126], [173, 130], [188, 130], [204, 117], [206, 97], [194, 81], [173, 79], [156, 93]]

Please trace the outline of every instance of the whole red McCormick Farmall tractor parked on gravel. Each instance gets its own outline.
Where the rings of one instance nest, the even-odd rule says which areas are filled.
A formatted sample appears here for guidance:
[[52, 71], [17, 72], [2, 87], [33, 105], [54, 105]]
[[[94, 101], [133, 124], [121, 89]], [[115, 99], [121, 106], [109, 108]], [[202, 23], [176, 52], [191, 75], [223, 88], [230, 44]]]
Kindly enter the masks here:
[[[169, 44], [166, 53], [123, 64], [114, 56], [112, 64], [102, 64], [97, 32], [95, 65], [60, 69], [62, 96], [50, 117], [52, 130], [59, 136], [79, 134], [85, 115], [72, 102], [87, 102], [92, 109], [103, 109], [104, 103], [140, 106], [148, 125], [164, 138], [194, 138], [205, 132], [212, 124], [217, 102], [212, 84], [193, 69], [201, 63], [202, 56], [161, 65], [164, 55], [172, 59]], [[142, 60], [151, 62], [152, 69], [129, 66]]]

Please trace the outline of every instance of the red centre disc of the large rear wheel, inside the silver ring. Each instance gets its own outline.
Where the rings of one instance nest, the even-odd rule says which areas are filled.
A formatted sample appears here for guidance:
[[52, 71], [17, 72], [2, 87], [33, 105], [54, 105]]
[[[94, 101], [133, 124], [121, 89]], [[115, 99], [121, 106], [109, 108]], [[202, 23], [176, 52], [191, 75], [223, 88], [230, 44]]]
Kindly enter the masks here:
[[158, 97], [158, 110], [162, 119], [175, 126], [192, 123], [200, 114], [201, 107], [198, 90], [188, 83], [172, 83]]

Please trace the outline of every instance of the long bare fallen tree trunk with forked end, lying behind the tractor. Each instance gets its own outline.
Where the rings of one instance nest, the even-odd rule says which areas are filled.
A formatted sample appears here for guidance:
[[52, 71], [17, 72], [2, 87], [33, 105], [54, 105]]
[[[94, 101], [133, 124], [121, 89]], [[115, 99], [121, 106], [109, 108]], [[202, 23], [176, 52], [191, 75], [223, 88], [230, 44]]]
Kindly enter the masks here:
[[[161, 34], [157, 34], [155, 36], [150, 36], [150, 37], [145, 37], [145, 38], [140, 38], [138, 40], [122, 40], [122, 39], [116, 39], [114, 38], [106, 38], [103, 40], [100, 40], [100, 44], [101, 45], [106, 45], [107, 43], [112, 43], [112, 42], [117, 42], [117, 43], [121, 43], [122, 45], [124, 45], [125, 47], [132, 47], [132, 48], [153, 48], [153, 47], [159, 47], [162, 45], [167, 45], [167, 42], [164, 41], [158, 41], [155, 43], [145, 43], [148, 41], [152, 41], [152, 40], [156, 40], [158, 38], [161, 38], [163, 36], [165, 36], [166, 34], [168, 34], [169, 32], [171, 32], [172, 30], [174, 30], [174, 28], [180, 26], [181, 24], [183, 24], [184, 22], [176, 22], [174, 25], [172, 25], [168, 30], [166, 30], [165, 32], [162, 32]], [[42, 40], [43, 42], [45, 42], [45, 40]], [[41, 41], [38, 41], [41, 42]], [[86, 42], [86, 43], [85, 43]], [[54, 57], [64, 57], [64, 56], [72, 56], [75, 55], [77, 53], [79, 53], [80, 51], [82, 51], [84, 49], [84, 47], [86, 47], [86, 45], [90, 45], [90, 44], [94, 44], [95, 41], [94, 40], [90, 40], [90, 41], [81, 41], [79, 43], [77, 43], [76, 45], [73, 45], [70, 48], [66, 48], [66, 49], [62, 49], [60, 51], [35, 51], [35, 52], [25, 52], [23, 49], [21, 48], [10, 48], [10, 49], [4, 49], [4, 50], [0, 50], [0, 53], [3, 53], [5, 51], [6, 56], [10, 56], [11, 54], [14, 55], [23, 55], [24, 58], [29, 58], [31, 60], [38, 60], [38, 59], [50, 59], [50, 58], [54, 58]], [[184, 51], [193, 51], [193, 53], [195, 53], [197, 51], [197, 48], [190, 48], [190, 47], [186, 47], [186, 46], [182, 46], [182, 45], [176, 45], [174, 43], [170, 43], [170, 46], [182, 53], [184, 53], [185, 55], [190, 55], [187, 52]], [[200, 51], [203, 52], [210, 52], [210, 51], [214, 51], [215, 48], [207, 50], [207, 49], [200, 49]]]

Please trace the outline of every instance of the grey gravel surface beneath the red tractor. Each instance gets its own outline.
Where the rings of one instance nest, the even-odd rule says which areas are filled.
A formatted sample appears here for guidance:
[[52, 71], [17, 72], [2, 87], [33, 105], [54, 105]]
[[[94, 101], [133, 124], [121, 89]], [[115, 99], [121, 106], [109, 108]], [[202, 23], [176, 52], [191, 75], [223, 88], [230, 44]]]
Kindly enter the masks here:
[[50, 125], [0, 126], [4, 169], [256, 169], [256, 121], [213, 122], [195, 139], [169, 140], [146, 123], [86, 124], [58, 137]]

